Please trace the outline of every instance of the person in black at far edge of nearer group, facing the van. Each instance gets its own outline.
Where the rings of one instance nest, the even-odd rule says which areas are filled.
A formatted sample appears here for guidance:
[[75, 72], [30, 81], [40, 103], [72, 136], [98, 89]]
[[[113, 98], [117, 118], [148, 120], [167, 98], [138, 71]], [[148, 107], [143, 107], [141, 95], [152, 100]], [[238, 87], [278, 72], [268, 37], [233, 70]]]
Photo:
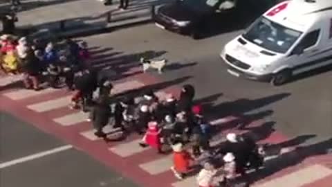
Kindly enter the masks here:
[[180, 98], [178, 100], [178, 112], [191, 112], [194, 96], [194, 87], [191, 84], [185, 84], [181, 89]]

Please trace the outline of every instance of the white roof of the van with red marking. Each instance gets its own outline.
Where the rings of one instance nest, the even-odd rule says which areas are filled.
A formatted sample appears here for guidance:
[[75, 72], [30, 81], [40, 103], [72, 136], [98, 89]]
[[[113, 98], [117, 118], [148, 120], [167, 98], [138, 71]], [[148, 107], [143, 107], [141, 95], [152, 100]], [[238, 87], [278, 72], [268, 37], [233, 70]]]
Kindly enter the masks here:
[[264, 17], [289, 28], [305, 31], [318, 21], [332, 18], [331, 0], [291, 0], [270, 8]]

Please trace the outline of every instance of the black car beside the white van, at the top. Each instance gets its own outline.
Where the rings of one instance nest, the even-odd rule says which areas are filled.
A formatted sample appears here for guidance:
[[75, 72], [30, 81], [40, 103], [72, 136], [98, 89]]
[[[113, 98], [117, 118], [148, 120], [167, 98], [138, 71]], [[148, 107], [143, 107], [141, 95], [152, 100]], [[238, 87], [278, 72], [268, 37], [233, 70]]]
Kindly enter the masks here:
[[158, 8], [154, 22], [160, 28], [199, 39], [208, 22], [224, 17], [236, 5], [237, 0], [178, 0]]

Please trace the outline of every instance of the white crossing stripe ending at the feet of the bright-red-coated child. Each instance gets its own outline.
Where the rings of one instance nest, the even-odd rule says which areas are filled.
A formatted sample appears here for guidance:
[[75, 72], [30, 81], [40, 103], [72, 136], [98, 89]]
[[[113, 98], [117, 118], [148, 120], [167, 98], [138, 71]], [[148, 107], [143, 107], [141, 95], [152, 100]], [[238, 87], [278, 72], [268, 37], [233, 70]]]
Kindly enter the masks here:
[[120, 143], [119, 145], [109, 148], [109, 150], [114, 154], [117, 154], [118, 156], [125, 158], [125, 157], [130, 157], [133, 154], [138, 154], [140, 152], [150, 149], [149, 147], [142, 148], [139, 145], [140, 141], [141, 139], [136, 139], [133, 141], [129, 141], [128, 143]]

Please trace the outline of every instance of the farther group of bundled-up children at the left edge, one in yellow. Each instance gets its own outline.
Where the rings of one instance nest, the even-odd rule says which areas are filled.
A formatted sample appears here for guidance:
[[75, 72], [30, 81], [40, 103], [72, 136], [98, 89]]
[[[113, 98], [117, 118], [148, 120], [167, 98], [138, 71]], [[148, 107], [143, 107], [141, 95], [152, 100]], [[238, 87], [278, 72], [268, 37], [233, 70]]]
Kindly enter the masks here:
[[75, 72], [82, 69], [90, 57], [86, 42], [77, 44], [71, 39], [66, 39], [60, 46], [40, 39], [2, 35], [0, 45], [3, 72], [23, 73], [25, 87], [36, 91], [44, 80], [50, 87], [59, 87], [62, 77], [67, 87], [72, 89]]

